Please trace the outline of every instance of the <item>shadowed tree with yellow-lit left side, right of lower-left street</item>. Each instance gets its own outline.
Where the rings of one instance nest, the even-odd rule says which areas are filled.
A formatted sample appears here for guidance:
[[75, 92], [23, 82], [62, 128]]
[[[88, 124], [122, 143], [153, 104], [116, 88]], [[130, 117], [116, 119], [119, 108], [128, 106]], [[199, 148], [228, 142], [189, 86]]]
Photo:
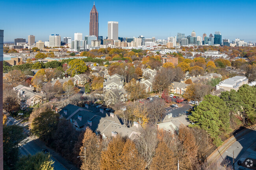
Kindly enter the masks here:
[[52, 130], [56, 129], [59, 114], [52, 110], [46, 110], [38, 114], [30, 124], [30, 132], [37, 137], [48, 139]]

